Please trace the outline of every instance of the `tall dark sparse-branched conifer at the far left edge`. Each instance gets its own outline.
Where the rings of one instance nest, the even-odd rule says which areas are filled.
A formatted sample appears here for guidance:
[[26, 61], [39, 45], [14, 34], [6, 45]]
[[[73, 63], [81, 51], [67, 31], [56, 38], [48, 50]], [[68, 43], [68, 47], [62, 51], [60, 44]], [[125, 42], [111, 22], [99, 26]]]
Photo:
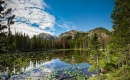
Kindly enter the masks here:
[[[0, 0], [0, 52], [6, 50], [7, 37], [10, 35], [10, 25], [14, 24], [13, 18], [15, 15], [11, 15], [11, 8], [7, 11], [4, 10], [5, 1]], [[7, 22], [5, 22], [7, 21]], [[6, 23], [6, 24], [5, 24]], [[8, 31], [5, 32], [4, 30]]]

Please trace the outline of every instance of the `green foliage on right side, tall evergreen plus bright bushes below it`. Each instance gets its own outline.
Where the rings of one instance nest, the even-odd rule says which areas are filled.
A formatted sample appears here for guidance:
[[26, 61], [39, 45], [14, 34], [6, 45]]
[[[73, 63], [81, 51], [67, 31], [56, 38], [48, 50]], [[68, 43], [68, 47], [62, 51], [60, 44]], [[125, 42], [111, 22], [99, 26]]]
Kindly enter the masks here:
[[130, 80], [129, 5], [130, 0], [115, 0], [112, 37], [100, 59], [101, 80]]

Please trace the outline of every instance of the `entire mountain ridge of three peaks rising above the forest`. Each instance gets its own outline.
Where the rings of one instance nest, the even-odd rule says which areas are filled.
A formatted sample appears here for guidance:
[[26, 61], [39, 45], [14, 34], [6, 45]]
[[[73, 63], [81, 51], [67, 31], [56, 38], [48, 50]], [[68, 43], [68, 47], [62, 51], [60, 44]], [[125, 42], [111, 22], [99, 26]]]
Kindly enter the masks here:
[[107, 30], [106, 28], [103, 27], [98, 27], [92, 30], [89, 30], [87, 32], [84, 31], [78, 31], [78, 30], [70, 30], [61, 33], [59, 36], [51, 35], [48, 33], [40, 33], [37, 36], [41, 37], [44, 40], [48, 39], [79, 39], [79, 38], [85, 38], [85, 37], [90, 37], [94, 33], [96, 33], [99, 36], [99, 39], [101, 38], [108, 38], [110, 36], [110, 31]]

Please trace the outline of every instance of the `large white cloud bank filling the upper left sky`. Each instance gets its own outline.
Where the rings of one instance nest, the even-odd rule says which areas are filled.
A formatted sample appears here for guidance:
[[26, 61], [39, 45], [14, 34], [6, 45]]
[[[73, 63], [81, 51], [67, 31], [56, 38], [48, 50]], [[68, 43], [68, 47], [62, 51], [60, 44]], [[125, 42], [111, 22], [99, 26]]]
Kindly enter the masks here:
[[16, 30], [31, 36], [42, 32], [53, 34], [55, 17], [45, 11], [48, 6], [44, 0], [7, 0], [6, 3], [6, 8], [12, 8], [12, 14], [16, 15], [16, 22], [11, 25], [13, 33]]

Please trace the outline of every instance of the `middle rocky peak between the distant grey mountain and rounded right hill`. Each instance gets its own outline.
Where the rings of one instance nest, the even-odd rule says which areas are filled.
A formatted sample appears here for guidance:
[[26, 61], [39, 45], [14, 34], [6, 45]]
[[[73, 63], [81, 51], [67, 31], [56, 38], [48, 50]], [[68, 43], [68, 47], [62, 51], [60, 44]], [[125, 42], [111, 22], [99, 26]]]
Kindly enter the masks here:
[[78, 39], [78, 38], [82, 38], [82, 37], [87, 37], [86, 32], [82, 32], [82, 31], [76, 31], [76, 30], [71, 30], [68, 32], [64, 32], [62, 34], [59, 35], [59, 38], [67, 38], [67, 39]]

